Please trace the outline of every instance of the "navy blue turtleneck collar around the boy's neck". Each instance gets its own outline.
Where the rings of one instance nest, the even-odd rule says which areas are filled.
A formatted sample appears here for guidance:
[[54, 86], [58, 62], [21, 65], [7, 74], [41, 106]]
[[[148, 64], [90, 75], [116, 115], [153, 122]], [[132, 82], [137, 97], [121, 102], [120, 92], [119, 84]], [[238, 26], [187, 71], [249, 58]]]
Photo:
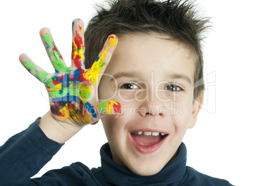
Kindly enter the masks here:
[[177, 155], [166, 164], [159, 173], [152, 176], [140, 176], [112, 160], [110, 146], [105, 143], [101, 147], [101, 168], [104, 180], [112, 185], [170, 185], [172, 183], [182, 182], [186, 172], [187, 149], [184, 143], [181, 143], [177, 150]]

